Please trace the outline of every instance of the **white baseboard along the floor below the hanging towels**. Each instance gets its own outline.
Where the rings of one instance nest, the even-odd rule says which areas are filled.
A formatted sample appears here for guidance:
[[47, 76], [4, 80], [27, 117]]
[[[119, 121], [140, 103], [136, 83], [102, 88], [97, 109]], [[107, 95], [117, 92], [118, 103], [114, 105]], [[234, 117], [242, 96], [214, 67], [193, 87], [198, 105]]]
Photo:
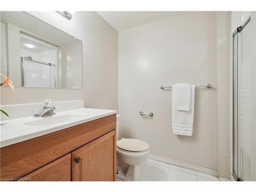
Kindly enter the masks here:
[[189, 168], [189, 169], [192, 169], [192, 170], [196, 170], [197, 172], [202, 172], [202, 173], [212, 175], [212, 176], [215, 176], [215, 177], [219, 176], [217, 170], [206, 168], [206, 167], [201, 167], [201, 166], [198, 166], [198, 165], [183, 163], [183, 162], [180, 162], [180, 161], [167, 159], [167, 158], [159, 157], [159, 156], [156, 156], [156, 155], [150, 155], [148, 157], [148, 159], [161, 161], [161, 162], [164, 162], [164, 163], [168, 163], [168, 164], [172, 164], [172, 165], [176, 165], [176, 166], [180, 166], [180, 167], [184, 167], [184, 168]]

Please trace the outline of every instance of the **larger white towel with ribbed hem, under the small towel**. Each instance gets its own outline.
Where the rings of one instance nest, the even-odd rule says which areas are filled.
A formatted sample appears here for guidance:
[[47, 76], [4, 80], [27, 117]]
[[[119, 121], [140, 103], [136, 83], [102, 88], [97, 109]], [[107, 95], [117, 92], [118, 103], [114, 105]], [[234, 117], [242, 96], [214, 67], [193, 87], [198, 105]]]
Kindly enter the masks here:
[[192, 136], [194, 123], [194, 101], [195, 101], [195, 86], [191, 85], [190, 94], [190, 109], [189, 111], [177, 110], [177, 100], [179, 93], [177, 85], [172, 86], [172, 125], [173, 134]]

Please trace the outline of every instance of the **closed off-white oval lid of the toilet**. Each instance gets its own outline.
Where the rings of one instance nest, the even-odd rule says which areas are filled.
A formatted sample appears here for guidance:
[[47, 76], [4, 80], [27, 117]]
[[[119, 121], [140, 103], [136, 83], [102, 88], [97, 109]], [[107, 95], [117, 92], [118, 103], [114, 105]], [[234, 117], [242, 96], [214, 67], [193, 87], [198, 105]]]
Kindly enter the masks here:
[[145, 141], [139, 139], [125, 139], [122, 138], [121, 140], [116, 142], [116, 145], [125, 151], [130, 152], [142, 152], [147, 150], [150, 145], [148, 145]]

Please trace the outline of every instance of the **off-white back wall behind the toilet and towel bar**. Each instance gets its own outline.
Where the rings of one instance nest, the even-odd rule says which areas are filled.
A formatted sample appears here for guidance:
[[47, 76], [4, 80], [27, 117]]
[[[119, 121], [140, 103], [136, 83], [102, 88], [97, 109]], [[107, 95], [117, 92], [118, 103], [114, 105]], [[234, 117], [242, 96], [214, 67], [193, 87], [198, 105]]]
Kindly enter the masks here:
[[[153, 155], [218, 170], [218, 19], [216, 12], [191, 12], [119, 32], [121, 137], [145, 140]], [[192, 137], [172, 133], [172, 91], [160, 90], [178, 82], [212, 84], [196, 89]]]

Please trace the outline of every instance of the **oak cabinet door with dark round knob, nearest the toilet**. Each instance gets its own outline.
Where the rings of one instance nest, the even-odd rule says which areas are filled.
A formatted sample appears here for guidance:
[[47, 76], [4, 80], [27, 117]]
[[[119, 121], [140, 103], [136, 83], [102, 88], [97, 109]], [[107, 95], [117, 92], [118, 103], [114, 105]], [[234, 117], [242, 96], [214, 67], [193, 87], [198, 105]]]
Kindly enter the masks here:
[[116, 180], [116, 130], [72, 152], [72, 180]]

